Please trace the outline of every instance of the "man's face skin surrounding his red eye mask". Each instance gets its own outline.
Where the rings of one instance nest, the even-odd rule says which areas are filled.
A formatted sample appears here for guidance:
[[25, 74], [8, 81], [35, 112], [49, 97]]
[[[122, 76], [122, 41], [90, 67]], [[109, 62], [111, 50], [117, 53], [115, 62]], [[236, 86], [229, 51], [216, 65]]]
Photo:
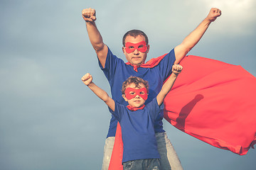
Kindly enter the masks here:
[[[131, 42], [133, 44], [137, 44], [138, 42], [145, 41], [144, 36], [138, 35], [136, 38], [128, 35], [127, 38], [125, 38], [125, 44], [127, 42]], [[147, 45], [146, 52], [141, 52], [139, 50], [134, 50], [133, 52], [128, 53], [126, 50], [126, 47], [122, 47], [122, 50], [124, 52], [125, 57], [127, 58], [127, 61], [134, 65], [141, 65], [144, 64], [146, 60], [146, 55], [149, 52], [149, 45]]]

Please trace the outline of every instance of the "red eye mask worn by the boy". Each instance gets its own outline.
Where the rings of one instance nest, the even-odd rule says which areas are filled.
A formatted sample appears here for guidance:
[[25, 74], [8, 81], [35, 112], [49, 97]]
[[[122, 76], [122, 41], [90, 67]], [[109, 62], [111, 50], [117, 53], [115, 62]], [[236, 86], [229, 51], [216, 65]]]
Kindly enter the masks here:
[[141, 98], [144, 99], [144, 101], [146, 101], [147, 99], [147, 92], [146, 92], [146, 87], [142, 88], [142, 89], [134, 89], [134, 88], [127, 88], [125, 89], [125, 97], [128, 100], [131, 100], [132, 98], [136, 97], [137, 95], [139, 95]]

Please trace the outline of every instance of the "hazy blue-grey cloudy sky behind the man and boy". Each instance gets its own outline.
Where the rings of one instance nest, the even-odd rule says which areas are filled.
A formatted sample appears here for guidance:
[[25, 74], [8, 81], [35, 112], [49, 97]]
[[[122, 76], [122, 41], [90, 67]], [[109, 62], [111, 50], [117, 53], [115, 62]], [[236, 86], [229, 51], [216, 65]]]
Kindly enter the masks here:
[[[127, 30], [144, 30], [148, 59], [158, 57], [218, 7], [222, 16], [189, 55], [241, 65], [256, 76], [255, 5], [253, 0], [1, 1], [0, 168], [101, 168], [110, 113], [80, 78], [90, 72], [109, 93], [110, 86], [88, 40], [82, 8], [96, 8], [104, 42], [125, 60]], [[239, 156], [166, 121], [164, 129], [184, 169], [255, 169], [255, 149]]]

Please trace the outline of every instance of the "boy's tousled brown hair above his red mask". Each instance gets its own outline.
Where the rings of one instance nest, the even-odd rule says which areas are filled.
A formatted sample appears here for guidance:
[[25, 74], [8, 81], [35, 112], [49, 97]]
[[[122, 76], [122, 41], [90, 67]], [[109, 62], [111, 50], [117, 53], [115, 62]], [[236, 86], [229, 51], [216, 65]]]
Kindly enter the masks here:
[[127, 85], [128, 84], [135, 84], [135, 87], [140, 88], [141, 86], [139, 86], [139, 84], [144, 84], [144, 86], [146, 87], [146, 92], [149, 93], [149, 82], [139, 78], [139, 77], [129, 77], [126, 81], [123, 82], [122, 84], [122, 94], [125, 94], [125, 90], [127, 89]]

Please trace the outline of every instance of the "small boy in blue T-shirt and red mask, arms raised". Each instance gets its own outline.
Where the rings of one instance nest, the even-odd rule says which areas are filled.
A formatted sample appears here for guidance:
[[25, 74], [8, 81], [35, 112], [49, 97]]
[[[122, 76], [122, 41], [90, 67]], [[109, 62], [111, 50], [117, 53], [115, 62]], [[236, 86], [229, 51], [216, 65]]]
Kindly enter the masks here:
[[175, 64], [171, 76], [162, 86], [159, 94], [146, 106], [144, 105], [149, 86], [139, 77], [129, 77], [122, 85], [122, 97], [129, 103], [127, 107], [114, 102], [105, 91], [92, 82], [92, 76], [85, 74], [82, 81], [102, 101], [109, 106], [111, 113], [119, 120], [124, 143], [124, 169], [161, 169], [160, 155], [156, 145], [154, 120], [164, 109], [163, 101], [171, 90], [178, 74], [183, 68]]

